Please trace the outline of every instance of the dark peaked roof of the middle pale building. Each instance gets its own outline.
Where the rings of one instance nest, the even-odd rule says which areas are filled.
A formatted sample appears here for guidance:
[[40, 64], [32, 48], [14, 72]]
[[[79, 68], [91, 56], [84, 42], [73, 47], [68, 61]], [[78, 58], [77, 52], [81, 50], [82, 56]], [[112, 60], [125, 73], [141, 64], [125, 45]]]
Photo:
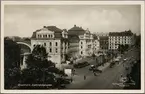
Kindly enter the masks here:
[[74, 25], [71, 29], [68, 30], [68, 35], [83, 35], [85, 30], [82, 27]]

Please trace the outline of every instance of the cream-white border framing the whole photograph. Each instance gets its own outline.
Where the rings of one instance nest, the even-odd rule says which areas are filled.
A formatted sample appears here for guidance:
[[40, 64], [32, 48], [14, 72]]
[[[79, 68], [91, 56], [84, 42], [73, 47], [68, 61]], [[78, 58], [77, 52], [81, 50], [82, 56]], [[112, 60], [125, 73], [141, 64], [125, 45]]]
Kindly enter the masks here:
[[[141, 90], [5, 90], [4, 5], [141, 5]], [[1, 1], [1, 92], [2, 93], [144, 93], [144, 1]]]

